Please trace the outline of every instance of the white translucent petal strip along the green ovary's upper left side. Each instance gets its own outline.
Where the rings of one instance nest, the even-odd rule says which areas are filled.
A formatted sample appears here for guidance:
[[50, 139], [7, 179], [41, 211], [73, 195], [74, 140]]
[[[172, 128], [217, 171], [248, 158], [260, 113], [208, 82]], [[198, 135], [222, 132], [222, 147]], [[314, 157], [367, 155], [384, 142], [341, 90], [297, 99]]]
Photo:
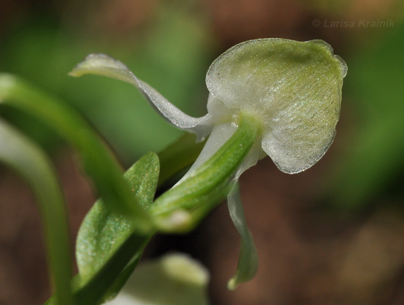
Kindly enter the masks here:
[[191, 177], [203, 163], [208, 161], [208, 159], [212, 157], [227, 140], [229, 140], [236, 130], [237, 126], [232, 123], [223, 123], [215, 126], [208, 140], [206, 141], [204, 148], [198, 156], [198, 159], [196, 159], [183, 178], [177, 182], [176, 186], [188, 177]]

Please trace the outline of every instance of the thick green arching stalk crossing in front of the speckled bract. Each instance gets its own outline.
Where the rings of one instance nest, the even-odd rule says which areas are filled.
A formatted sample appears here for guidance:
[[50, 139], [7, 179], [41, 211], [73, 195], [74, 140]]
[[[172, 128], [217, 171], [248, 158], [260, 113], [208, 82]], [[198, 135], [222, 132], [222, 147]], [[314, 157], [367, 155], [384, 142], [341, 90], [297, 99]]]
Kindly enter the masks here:
[[149, 217], [131, 194], [122, 170], [93, 128], [62, 101], [25, 84], [17, 77], [0, 74], [0, 102], [38, 117], [76, 148], [105, 206], [130, 216], [138, 230], [150, 230]]

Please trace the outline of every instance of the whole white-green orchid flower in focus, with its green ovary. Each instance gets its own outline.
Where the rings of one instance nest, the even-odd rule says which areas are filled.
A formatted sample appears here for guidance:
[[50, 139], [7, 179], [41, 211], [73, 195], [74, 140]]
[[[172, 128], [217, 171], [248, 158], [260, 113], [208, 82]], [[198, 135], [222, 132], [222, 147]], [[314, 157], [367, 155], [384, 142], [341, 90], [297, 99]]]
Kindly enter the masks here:
[[69, 74], [88, 73], [133, 84], [169, 123], [195, 133], [198, 141], [210, 134], [194, 165], [156, 200], [160, 210], [154, 212], [160, 215], [164, 207], [169, 220], [165, 224], [181, 227], [187, 211], [196, 208], [195, 215], [203, 214], [207, 198], [217, 198], [218, 190], [225, 188], [231, 219], [241, 235], [238, 270], [228, 288], [250, 280], [258, 259], [244, 218], [238, 178], [266, 155], [285, 173], [304, 171], [324, 155], [339, 119], [345, 62], [322, 40], [243, 42], [210, 65], [208, 113], [199, 118], [183, 113], [108, 55], [90, 54]]

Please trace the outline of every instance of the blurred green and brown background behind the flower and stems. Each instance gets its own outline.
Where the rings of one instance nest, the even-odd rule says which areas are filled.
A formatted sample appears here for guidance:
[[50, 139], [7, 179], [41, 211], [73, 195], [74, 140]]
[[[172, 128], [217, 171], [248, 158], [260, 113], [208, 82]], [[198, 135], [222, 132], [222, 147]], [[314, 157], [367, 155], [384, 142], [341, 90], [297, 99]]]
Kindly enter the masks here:
[[[267, 157], [241, 178], [259, 251], [257, 276], [235, 292], [225, 289], [239, 247], [225, 205], [192, 234], [154, 238], [145, 257], [183, 251], [202, 261], [211, 272], [215, 305], [399, 305], [404, 304], [403, 22], [399, 0], [1, 0], [0, 71], [64, 98], [129, 167], [181, 132], [129, 84], [68, 77], [88, 53], [119, 58], [177, 107], [200, 116], [206, 113], [206, 69], [227, 48], [255, 38], [325, 40], [348, 66], [331, 148], [303, 173], [282, 173]], [[97, 198], [75, 152], [25, 113], [0, 106], [0, 115], [53, 156], [73, 245]], [[49, 296], [32, 194], [0, 167], [0, 304], [39, 305]]]

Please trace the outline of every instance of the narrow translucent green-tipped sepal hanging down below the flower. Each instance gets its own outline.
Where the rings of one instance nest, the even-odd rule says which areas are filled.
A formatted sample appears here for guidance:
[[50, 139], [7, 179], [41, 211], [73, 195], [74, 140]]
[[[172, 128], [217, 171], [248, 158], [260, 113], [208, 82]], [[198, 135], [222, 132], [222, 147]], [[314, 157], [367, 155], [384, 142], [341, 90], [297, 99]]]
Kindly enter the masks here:
[[251, 232], [247, 228], [237, 180], [233, 180], [231, 183], [230, 192], [227, 196], [227, 205], [229, 207], [231, 220], [233, 220], [241, 236], [240, 257], [238, 259], [237, 271], [227, 283], [227, 289], [235, 290], [239, 284], [251, 280], [258, 269], [257, 249]]

